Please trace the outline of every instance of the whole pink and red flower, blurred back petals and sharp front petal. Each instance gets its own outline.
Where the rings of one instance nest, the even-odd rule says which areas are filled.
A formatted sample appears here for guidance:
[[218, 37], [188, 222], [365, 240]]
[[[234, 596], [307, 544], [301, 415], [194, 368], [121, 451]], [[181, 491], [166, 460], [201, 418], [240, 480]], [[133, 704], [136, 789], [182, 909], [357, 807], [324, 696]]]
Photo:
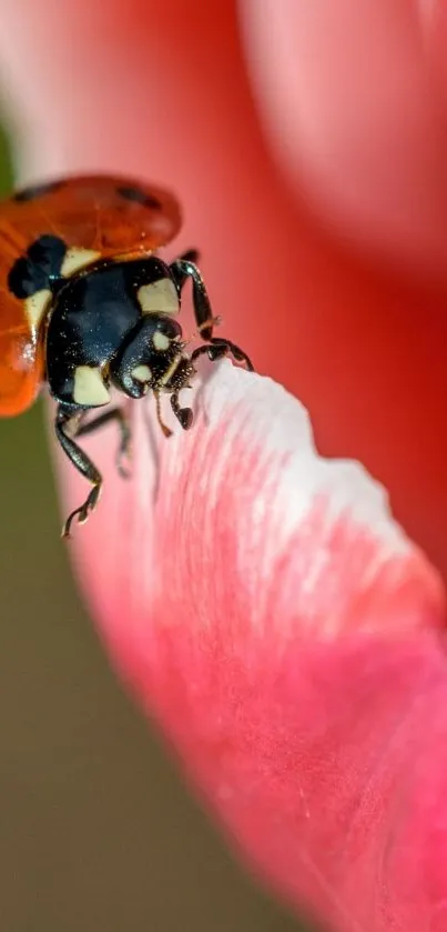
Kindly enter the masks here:
[[[398, 0], [306, 7], [7, 10], [23, 174], [172, 179], [179, 250], [203, 240], [225, 331], [295, 395], [205, 367], [170, 441], [135, 403], [131, 483], [112, 431], [88, 441], [106, 485], [73, 551], [113, 664], [246, 862], [341, 932], [440, 932], [443, 584], [296, 400], [445, 569], [439, 36]], [[83, 490], [58, 462], [65, 511]]]

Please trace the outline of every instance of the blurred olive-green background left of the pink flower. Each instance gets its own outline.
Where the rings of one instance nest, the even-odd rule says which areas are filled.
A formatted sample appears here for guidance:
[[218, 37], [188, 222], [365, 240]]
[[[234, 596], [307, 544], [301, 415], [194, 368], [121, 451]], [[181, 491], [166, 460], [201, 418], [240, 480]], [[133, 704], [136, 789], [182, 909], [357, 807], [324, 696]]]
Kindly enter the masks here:
[[60, 541], [42, 405], [0, 422], [0, 932], [296, 932], [108, 667]]

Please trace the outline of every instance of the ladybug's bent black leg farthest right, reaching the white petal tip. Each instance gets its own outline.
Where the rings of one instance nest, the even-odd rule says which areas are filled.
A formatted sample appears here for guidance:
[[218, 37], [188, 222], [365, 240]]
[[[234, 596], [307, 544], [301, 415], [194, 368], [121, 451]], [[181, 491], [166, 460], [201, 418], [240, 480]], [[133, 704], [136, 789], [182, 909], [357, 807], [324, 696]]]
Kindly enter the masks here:
[[[190, 254], [191, 253], [186, 253], [186, 255]], [[197, 355], [201, 355], [202, 353], [206, 353], [209, 359], [212, 361], [231, 353], [237, 362], [245, 362], [246, 368], [253, 372], [253, 363], [243, 350], [236, 347], [235, 343], [232, 343], [231, 340], [225, 340], [223, 337], [213, 337], [213, 311], [211, 309], [205, 283], [195, 263], [189, 258], [185, 259], [184, 257], [181, 257], [180, 259], [176, 259], [170, 268], [179, 288], [183, 287], [186, 279], [192, 279], [194, 317], [197, 327], [200, 328], [201, 335], [207, 343], [211, 344], [207, 347], [199, 347], [199, 349], [194, 350], [192, 360], [196, 359]], [[209, 321], [210, 323], [207, 323]]]

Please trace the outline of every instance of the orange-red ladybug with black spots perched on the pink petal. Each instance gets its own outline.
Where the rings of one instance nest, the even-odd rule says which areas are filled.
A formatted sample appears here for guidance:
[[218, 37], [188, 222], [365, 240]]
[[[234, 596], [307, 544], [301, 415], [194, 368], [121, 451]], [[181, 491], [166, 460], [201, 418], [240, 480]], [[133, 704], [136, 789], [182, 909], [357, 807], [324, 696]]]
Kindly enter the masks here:
[[[253, 365], [230, 340], [213, 335], [213, 318], [196, 250], [167, 264], [158, 250], [181, 227], [180, 206], [167, 191], [129, 178], [61, 178], [17, 191], [0, 203], [0, 417], [26, 411], [43, 387], [57, 402], [55, 437], [91, 483], [69, 515], [83, 523], [95, 508], [102, 475], [78, 440], [115, 420], [118, 464], [129, 453], [126, 398], [170, 395], [181, 427], [193, 413], [180, 403], [202, 353], [230, 353]], [[182, 289], [192, 281], [194, 315], [203, 339], [191, 354], [176, 320]], [[106, 410], [88, 420], [89, 412]], [[125, 473], [124, 473], [125, 474]]]

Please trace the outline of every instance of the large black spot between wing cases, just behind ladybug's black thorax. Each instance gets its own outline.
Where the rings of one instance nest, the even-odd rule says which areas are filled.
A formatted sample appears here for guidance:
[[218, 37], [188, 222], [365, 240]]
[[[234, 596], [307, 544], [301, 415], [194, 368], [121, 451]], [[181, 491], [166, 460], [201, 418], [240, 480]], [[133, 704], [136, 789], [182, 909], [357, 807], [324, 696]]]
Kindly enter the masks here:
[[16, 298], [30, 298], [37, 291], [57, 290], [67, 245], [59, 237], [39, 237], [27, 254], [18, 259], [8, 275], [8, 288]]

